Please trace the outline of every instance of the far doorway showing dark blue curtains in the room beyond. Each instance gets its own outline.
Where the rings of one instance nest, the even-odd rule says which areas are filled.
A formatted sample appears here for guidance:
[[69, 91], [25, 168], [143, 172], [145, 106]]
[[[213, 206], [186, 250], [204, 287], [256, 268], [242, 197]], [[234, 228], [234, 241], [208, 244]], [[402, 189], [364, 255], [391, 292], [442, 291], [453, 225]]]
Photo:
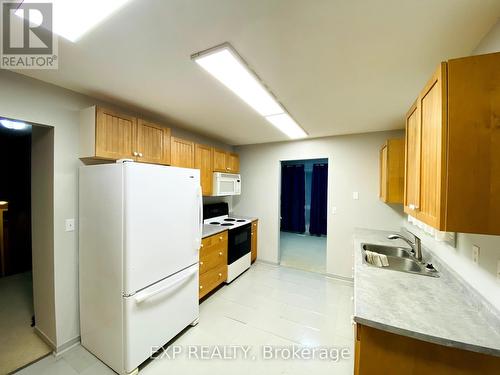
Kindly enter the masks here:
[[280, 265], [326, 273], [328, 159], [281, 162]]

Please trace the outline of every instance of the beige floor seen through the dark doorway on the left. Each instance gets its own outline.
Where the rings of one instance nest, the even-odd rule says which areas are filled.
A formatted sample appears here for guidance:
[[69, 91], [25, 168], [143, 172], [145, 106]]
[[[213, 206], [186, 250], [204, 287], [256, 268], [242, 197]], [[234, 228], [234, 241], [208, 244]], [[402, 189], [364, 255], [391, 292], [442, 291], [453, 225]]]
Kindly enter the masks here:
[[31, 327], [33, 311], [31, 272], [0, 278], [0, 374], [51, 352]]

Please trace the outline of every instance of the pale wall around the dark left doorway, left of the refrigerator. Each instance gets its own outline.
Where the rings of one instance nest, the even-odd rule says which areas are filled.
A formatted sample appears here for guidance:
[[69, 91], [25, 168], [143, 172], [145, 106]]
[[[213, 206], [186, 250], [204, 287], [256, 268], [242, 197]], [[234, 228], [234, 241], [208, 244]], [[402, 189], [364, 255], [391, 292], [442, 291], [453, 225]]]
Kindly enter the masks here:
[[[78, 231], [64, 230], [65, 219], [78, 218], [79, 111], [90, 105], [106, 103], [6, 70], [0, 70], [0, 88], [0, 116], [54, 127], [54, 249], [53, 257], [46, 259], [53, 262], [54, 282], [38, 285], [34, 291], [38, 293], [36, 300], [42, 293], [39, 288], [48, 288], [43, 290], [43, 296], [47, 298], [47, 305], [54, 306], [55, 332], [52, 328], [54, 322], [45, 322], [47, 314], [41, 311], [36, 311], [37, 324], [39, 329], [47, 330], [42, 331], [43, 334], [61, 348], [80, 335]], [[120, 110], [116, 106], [111, 108]], [[162, 120], [151, 115], [146, 119]], [[172, 134], [231, 149], [182, 129], [173, 128]], [[49, 290], [51, 288], [54, 290]]]

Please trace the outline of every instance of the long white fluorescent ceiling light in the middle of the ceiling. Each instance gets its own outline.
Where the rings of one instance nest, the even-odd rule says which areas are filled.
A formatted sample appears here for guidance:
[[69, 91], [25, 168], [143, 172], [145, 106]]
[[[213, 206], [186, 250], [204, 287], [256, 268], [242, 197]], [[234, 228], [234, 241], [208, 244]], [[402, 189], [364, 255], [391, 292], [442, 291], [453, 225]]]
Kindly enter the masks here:
[[[292, 131], [294, 137], [287, 132], [290, 121], [287, 121], [286, 124], [280, 123], [281, 128], [279, 129], [290, 138], [307, 136], [307, 133], [286, 113], [284, 107], [269, 92], [260, 78], [248, 67], [229, 43], [196, 53], [191, 56], [191, 59], [261, 116], [267, 118], [268, 116], [286, 115], [294, 124], [294, 131]], [[296, 127], [300, 129], [301, 137], [297, 137], [300, 132], [297, 131]]]

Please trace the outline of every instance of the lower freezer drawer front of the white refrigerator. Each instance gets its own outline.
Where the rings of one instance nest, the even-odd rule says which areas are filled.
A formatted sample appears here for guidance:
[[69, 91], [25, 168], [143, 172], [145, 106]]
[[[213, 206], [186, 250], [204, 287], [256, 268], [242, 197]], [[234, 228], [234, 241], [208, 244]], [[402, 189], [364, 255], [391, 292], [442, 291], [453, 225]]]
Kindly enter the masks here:
[[124, 365], [129, 373], [198, 319], [198, 264], [124, 301]]

